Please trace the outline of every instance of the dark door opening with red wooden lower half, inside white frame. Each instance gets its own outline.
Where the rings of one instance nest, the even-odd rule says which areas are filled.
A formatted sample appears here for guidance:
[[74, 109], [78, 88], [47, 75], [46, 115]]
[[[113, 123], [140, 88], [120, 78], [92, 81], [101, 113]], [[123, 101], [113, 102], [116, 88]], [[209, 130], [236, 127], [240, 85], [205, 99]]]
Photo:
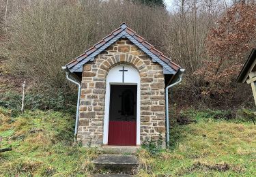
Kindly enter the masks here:
[[135, 146], [137, 133], [137, 86], [111, 85], [109, 145]]

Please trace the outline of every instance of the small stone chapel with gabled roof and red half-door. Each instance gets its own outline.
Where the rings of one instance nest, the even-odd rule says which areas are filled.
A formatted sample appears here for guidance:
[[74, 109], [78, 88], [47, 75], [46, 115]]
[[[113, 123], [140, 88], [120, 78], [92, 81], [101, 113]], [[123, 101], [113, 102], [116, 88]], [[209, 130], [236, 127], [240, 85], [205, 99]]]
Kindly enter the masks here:
[[75, 136], [84, 146], [169, 143], [168, 89], [182, 69], [125, 23], [62, 67], [79, 86]]

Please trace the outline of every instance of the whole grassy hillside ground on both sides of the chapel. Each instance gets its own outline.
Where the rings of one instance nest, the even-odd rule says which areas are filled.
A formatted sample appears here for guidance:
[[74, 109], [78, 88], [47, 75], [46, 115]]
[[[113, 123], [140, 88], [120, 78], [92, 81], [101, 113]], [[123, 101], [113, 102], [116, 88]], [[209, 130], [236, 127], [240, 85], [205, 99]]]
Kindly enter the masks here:
[[[219, 112], [217, 112], [219, 114]], [[11, 117], [0, 109], [0, 176], [84, 176], [96, 148], [72, 146], [74, 119], [53, 111]], [[256, 129], [243, 119], [216, 119], [216, 112], [190, 112], [197, 123], [171, 126], [171, 149], [137, 152], [139, 176], [256, 176]]]

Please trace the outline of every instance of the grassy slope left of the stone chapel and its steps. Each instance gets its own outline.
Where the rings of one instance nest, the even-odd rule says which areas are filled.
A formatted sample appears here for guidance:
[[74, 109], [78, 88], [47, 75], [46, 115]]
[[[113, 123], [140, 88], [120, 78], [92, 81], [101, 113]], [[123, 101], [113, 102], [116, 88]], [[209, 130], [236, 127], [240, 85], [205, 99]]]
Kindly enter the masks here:
[[0, 108], [0, 176], [86, 176], [95, 148], [72, 146], [74, 118], [53, 111], [25, 112], [12, 118]]

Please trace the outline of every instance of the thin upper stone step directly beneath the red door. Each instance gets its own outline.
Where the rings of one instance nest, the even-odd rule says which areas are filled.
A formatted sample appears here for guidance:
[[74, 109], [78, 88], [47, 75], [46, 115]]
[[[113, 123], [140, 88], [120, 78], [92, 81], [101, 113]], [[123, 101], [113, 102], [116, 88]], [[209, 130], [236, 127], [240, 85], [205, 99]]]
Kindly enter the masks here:
[[101, 150], [106, 154], [124, 155], [124, 154], [134, 154], [140, 146], [102, 146]]

